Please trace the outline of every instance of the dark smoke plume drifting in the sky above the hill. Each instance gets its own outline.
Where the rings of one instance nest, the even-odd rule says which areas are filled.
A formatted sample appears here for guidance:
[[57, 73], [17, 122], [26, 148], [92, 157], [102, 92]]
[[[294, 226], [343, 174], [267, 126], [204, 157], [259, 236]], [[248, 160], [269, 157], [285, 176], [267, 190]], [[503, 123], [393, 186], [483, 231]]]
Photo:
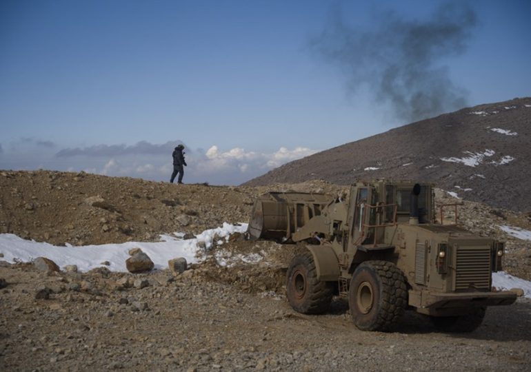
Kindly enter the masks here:
[[444, 3], [423, 20], [380, 12], [371, 23], [370, 31], [348, 25], [335, 8], [323, 32], [310, 39], [312, 50], [345, 74], [349, 94], [368, 85], [406, 123], [467, 104], [466, 90], [450, 79], [443, 60], [465, 52], [477, 23], [470, 7]]

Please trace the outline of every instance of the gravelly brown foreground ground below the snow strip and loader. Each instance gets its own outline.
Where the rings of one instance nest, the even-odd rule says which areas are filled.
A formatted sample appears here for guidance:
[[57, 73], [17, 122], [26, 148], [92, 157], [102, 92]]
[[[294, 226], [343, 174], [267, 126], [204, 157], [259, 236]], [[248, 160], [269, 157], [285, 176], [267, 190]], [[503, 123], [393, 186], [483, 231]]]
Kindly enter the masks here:
[[304, 316], [282, 294], [242, 291], [246, 279], [215, 280], [208, 265], [174, 277], [99, 269], [48, 275], [19, 264], [1, 267], [0, 276], [9, 283], [0, 294], [2, 371], [529, 371], [531, 365], [530, 300], [491, 307], [468, 335], [439, 333], [416, 313], [380, 333], [356, 329], [342, 300], [325, 315]]

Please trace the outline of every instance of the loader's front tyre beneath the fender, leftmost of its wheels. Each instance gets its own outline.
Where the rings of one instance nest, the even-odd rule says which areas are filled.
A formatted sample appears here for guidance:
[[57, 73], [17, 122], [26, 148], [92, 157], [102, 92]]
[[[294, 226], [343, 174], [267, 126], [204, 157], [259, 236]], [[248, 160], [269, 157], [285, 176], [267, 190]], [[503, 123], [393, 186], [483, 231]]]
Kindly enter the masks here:
[[334, 293], [332, 282], [317, 280], [315, 262], [309, 251], [291, 260], [285, 287], [291, 307], [303, 314], [327, 311]]

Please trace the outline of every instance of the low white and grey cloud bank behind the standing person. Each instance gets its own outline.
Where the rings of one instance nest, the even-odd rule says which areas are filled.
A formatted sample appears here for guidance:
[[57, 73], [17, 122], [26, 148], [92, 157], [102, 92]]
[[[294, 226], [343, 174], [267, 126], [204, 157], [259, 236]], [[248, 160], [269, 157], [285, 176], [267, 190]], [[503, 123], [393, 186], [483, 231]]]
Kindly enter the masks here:
[[[179, 143], [183, 141], [163, 144], [140, 141], [134, 145], [93, 145], [57, 150], [57, 145], [51, 141], [23, 138], [10, 143], [6, 151], [0, 144], [0, 169], [83, 171], [167, 181], [173, 169], [172, 151]], [[222, 151], [217, 145], [204, 150], [190, 149], [183, 144], [188, 163], [185, 183], [213, 185], [239, 185], [284, 163], [318, 152], [308, 147], [280, 147], [270, 153], [248, 151], [242, 147]]]

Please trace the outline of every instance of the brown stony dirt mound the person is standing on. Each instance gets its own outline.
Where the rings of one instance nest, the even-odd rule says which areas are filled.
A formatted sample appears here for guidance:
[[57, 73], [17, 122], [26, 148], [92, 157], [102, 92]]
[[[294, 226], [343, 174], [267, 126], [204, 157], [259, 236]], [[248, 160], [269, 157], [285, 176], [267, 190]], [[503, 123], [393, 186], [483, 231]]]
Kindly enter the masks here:
[[[0, 233], [54, 245], [152, 241], [173, 231], [199, 234], [223, 222], [247, 222], [256, 196], [288, 187], [174, 185], [83, 172], [2, 171]], [[323, 182], [293, 187], [338, 189]]]

